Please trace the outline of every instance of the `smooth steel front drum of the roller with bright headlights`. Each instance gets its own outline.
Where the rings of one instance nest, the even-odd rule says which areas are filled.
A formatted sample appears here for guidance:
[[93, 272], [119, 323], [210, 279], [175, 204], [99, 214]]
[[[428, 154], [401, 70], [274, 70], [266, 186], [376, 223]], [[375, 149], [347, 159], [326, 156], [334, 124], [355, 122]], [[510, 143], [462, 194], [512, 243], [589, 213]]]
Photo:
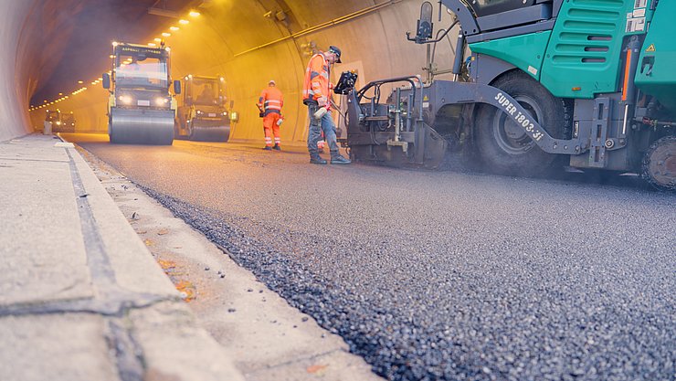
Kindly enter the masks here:
[[108, 129], [111, 143], [171, 145], [174, 111], [111, 109]]

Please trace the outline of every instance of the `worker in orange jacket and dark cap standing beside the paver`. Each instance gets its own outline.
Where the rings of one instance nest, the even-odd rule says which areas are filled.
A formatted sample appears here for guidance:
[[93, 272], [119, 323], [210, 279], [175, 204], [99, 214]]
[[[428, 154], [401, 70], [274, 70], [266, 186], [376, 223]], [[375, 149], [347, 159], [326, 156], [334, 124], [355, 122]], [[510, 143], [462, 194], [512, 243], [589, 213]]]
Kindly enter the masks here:
[[329, 47], [328, 51], [315, 54], [310, 58], [305, 70], [305, 81], [302, 89], [302, 102], [308, 106], [308, 118], [310, 119], [310, 131], [308, 132], [308, 152], [310, 163], [326, 164], [317, 148], [317, 143], [322, 139], [329, 145], [331, 151], [331, 164], [350, 164], [350, 160], [344, 158], [339, 152], [338, 142], [335, 137], [335, 123], [331, 117], [331, 66], [341, 62], [341, 49]]

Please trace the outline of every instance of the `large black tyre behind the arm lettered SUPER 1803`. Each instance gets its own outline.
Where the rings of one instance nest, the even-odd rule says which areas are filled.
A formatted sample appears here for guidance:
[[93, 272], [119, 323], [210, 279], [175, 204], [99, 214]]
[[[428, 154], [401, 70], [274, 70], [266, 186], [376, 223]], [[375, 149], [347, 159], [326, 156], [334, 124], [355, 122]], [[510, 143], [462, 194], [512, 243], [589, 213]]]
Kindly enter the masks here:
[[[554, 138], [570, 134], [571, 109], [540, 83], [522, 71], [512, 71], [492, 86], [518, 101]], [[476, 143], [486, 169], [504, 175], [543, 175], [565, 155], [545, 153], [507, 114], [491, 105], [481, 105], [475, 125]]]

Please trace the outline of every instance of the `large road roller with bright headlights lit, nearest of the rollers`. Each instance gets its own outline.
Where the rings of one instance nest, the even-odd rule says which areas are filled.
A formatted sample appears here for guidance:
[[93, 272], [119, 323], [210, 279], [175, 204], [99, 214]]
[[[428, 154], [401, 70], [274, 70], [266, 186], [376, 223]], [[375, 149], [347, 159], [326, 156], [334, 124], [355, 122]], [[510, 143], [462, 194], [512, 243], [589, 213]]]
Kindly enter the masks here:
[[[117, 42], [112, 46], [111, 72], [102, 77], [103, 88], [110, 91], [111, 143], [170, 145], [176, 110], [169, 91], [170, 49]], [[174, 81], [174, 93], [180, 92], [180, 81]]]

